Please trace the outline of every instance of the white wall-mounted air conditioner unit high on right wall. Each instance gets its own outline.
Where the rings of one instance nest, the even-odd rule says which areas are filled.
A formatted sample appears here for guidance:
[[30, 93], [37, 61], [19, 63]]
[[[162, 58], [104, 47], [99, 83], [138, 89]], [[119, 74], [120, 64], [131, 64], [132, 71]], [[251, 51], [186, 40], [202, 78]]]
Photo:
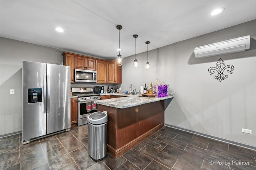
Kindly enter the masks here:
[[245, 51], [250, 48], [250, 35], [244, 37], [238, 37], [234, 39], [229, 39], [226, 41], [221, 41], [218, 43], [212, 43], [208, 45], [203, 45], [196, 47], [195, 57], [210, 57], [214, 55], [222, 55], [228, 53], [236, 53], [240, 51]]

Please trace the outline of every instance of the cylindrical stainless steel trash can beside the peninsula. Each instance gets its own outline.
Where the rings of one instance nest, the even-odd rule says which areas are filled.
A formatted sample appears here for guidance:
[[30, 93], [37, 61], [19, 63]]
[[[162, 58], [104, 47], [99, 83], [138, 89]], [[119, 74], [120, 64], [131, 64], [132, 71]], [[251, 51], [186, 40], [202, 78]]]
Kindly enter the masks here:
[[108, 115], [97, 111], [88, 116], [88, 152], [94, 161], [100, 161], [107, 155]]

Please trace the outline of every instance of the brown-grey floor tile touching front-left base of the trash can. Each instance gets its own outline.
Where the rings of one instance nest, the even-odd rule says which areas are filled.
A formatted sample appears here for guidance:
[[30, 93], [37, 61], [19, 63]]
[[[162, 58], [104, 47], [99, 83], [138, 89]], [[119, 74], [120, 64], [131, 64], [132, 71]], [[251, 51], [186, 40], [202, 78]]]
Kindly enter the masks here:
[[88, 149], [86, 147], [74, 150], [69, 154], [81, 170], [85, 170], [96, 163], [89, 157]]

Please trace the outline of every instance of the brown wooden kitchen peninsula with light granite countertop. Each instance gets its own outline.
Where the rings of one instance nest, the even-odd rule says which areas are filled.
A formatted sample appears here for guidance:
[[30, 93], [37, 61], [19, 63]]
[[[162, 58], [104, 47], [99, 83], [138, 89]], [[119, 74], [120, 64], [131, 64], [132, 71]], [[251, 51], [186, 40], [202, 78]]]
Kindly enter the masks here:
[[173, 96], [149, 98], [131, 95], [95, 101], [98, 111], [107, 111], [108, 114], [108, 152], [118, 158], [161, 129], [164, 125], [164, 100], [170, 98]]

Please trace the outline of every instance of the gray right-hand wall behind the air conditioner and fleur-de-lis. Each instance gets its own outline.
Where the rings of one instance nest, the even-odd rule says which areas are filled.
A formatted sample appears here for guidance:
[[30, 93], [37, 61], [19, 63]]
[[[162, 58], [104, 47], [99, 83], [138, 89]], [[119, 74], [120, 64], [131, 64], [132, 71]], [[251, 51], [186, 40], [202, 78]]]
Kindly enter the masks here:
[[[121, 88], [132, 83], [139, 89], [158, 78], [174, 92], [165, 110], [166, 124], [256, 147], [255, 28], [253, 20], [149, 51], [149, 71], [145, 69], [146, 53], [137, 55], [137, 70], [133, 67], [135, 57], [126, 57]], [[251, 36], [248, 51], [202, 59], [194, 56], [195, 47], [244, 35]], [[222, 82], [208, 72], [220, 58], [225, 65], [234, 65], [233, 74], [227, 73]], [[252, 134], [242, 133], [242, 128], [251, 129]]]

